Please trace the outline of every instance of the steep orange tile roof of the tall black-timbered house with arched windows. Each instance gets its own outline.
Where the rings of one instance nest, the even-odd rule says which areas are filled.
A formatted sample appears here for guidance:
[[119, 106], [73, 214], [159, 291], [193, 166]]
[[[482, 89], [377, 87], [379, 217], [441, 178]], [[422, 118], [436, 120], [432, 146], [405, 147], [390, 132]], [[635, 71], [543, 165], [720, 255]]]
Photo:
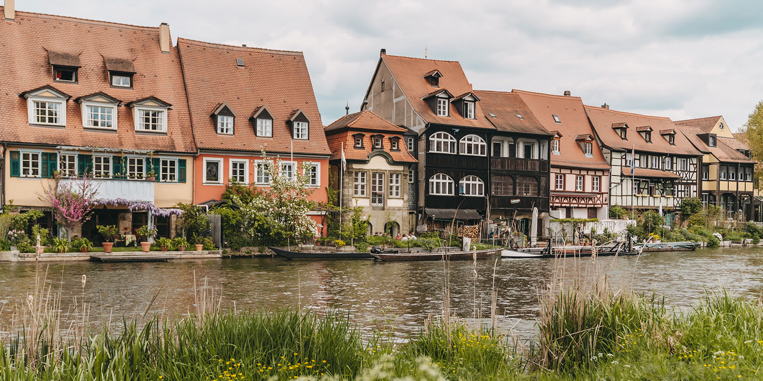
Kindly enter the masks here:
[[[464, 119], [456, 110], [456, 106], [450, 104], [449, 117], [438, 117], [429, 107], [423, 98], [433, 91], [447, 90], [453, 96], [472, 91], [472, 84], [466, 79], [461, 64], [456, 61], [439, 61], [436, 59], [420, 59], [402, 56], [381, 56], [390, 72], [398, 82], [403, 94], [417, 114], [428, 123], [447, 124], [452, 126], [469, 126], [476, 128], [495, 127], [485, 120], [485, 114], [482, 112], [480, 101], [475, 102], [475, 119]], [[433, 87], [424, 78], [428, 73], [434, 70], [439, 71], [443, 76], [439, 78], [439, 88]]]

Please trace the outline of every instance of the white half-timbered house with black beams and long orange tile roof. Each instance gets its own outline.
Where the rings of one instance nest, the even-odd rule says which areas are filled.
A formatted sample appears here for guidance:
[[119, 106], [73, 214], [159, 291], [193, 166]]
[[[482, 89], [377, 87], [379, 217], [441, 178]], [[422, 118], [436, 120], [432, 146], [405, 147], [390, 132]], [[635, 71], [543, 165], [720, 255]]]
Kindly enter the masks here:
[[669, 213], [697, 197], [701, 153], [667, 117], [586, 106], [611, 166], [610, 205]]

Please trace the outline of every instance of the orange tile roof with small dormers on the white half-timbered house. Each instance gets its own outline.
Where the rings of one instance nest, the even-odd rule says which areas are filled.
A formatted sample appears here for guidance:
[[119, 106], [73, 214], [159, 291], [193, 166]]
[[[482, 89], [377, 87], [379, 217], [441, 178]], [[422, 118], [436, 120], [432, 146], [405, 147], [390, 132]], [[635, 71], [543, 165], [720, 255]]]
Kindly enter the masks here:
[[663, 136], [652, 136], [652, 140], [647, 142], [640, 134], [628, 133], [627, 139], [622, 139], [617, 131], [611, 128], [613, 123], [628, 123], [629, 126], [638, 126], [636, 127], [637, 132], [675, 129], [676, 126], [670, 118], [626, 113], [595, 106], [586, 106], [585, 110], [594, 126], [597, 137], [604, 146], [610, 149], [620, 152], [636, 149], [636, 151], [655, 152], [663, 155], [701, 155], [681, 134], [674, 136], [674, 145], [671, 145]]

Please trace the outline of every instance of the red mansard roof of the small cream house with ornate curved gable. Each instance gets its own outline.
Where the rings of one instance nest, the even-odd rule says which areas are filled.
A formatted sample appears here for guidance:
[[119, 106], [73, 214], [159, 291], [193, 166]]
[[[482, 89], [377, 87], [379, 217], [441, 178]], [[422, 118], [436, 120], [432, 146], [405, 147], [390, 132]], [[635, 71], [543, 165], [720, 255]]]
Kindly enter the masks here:
[[[340, 117], [334, 123], [326, 127], [329, 148], [331, 149], [331, 160], [342, 158], [342, 146], [344, 143], [344, 156], [347, 160], [367, 161], [374, 152], [380, 151], [373, 149], [371, 136], [382, 135], [383, 151], [386, 152], [393, 162], [414, 163], [417, 162], [414, 156], [407, 150], [403, 133], [407, 129], [401, 126], [395, 126], [387, 120], [369, 110], [363, 110], [359, 113], [345, 115]], [[355, 147], [355, 133], [365, 133], [363, 137], [363, 147]], [[399, 138], [397, 150], [391, 149], [390, 138]]]

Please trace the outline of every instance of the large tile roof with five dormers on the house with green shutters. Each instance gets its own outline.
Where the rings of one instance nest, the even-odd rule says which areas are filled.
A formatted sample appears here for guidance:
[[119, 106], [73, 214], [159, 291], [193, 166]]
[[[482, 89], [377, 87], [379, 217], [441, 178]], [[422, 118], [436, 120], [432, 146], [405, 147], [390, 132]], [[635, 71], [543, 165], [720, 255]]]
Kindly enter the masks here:
[[[5, 14], [5, 9], [0, 7]], [[2, 20], [2, 17], [0, 17]], [[195, 152], [188, 103], [177, 50], [159, 49], [159, 27], [137, 27], [50, 14], [16, 12], [15, 21], [0, 21], [0, 139], [5, 142], [61, 146]], [[47, 49], [59, 55], [49, 55]], [[76, 56], [76, 59], [73, 57]], [[134, 87], [111, 88], [104, 57], [130, 60], [137, 74]], [[77, 66], [77, 83], [53, 82], [50, 59]], [[29, 126], [24, 91], [53, 85], [72, 98], [103, 91], [124, 102], [154, 96], [171, 103], [166, 134], [136, 133], [133, 112], [117, 107], [116, 133], [85, 131], [82, 109], [66, 102], [66, 129]]]

